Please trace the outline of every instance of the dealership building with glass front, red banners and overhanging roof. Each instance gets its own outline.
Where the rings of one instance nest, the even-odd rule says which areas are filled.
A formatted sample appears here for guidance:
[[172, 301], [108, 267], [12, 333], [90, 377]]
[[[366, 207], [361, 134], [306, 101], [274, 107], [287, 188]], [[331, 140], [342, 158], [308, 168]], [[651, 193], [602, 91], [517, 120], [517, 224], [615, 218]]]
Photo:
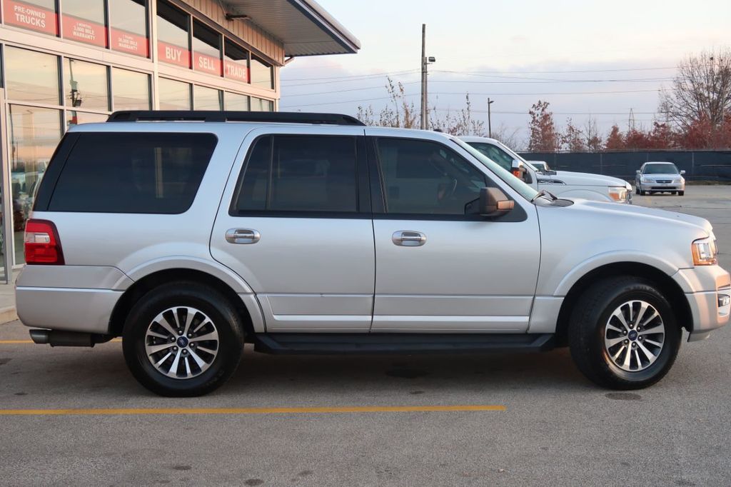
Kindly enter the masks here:
[[69, 127], [115, 110], [277, 110], [292, 58], [360, 48], [313, 0], [0, 0], [0, 12], [4, 268], [23, 263], [35, 189]]

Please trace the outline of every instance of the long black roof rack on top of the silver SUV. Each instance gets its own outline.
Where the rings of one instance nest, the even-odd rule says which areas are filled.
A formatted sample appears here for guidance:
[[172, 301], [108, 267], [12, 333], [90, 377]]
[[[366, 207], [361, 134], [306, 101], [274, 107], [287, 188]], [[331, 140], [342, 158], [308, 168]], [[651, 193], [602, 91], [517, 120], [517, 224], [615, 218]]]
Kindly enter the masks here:
[[219, 112], [213, 110], [126, 110], [112, 113], [107, 122], [131, 121], [249, 121], [278, 122], [282, 124], [325, 124], [357, 125], [362, 121], [340, 113], [302, 113], [302, 112]]

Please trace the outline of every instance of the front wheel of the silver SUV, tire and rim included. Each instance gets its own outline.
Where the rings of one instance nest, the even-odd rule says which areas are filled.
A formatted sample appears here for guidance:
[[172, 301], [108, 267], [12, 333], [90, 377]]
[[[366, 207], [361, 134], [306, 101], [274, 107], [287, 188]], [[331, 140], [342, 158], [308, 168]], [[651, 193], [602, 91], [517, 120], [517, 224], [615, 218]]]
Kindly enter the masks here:
[[681, 330], [667, 299], [652, 282], [605, 279], [579, 299], [569, 322], [569, 347], [577, 367], [596, 384], [640, 389], [667, 374]]

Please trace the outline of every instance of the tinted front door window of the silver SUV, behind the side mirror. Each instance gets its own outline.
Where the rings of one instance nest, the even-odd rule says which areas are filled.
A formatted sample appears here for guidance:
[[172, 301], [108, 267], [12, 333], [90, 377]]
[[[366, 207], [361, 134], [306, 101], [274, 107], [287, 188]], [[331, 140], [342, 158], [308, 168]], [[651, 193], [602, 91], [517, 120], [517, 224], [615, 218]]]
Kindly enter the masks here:
[[488, 185], [455, 152], [423, 140], [379, 139], [387, 213], [463, 215]]

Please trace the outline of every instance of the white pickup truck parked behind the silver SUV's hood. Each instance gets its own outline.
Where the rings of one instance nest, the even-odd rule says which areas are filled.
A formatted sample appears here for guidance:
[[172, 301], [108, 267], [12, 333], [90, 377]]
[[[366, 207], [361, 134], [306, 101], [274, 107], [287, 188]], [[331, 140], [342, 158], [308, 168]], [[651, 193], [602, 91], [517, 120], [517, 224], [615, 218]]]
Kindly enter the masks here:
[[538, 191], [545, 189], [563, 198], [632, 203], [632, 186], [622, 179], [600, 174], [546, 171], [532, 165], [498, 140], [471, 136], [460, 138], [504, 169], [520, 171], [523, 181]]

